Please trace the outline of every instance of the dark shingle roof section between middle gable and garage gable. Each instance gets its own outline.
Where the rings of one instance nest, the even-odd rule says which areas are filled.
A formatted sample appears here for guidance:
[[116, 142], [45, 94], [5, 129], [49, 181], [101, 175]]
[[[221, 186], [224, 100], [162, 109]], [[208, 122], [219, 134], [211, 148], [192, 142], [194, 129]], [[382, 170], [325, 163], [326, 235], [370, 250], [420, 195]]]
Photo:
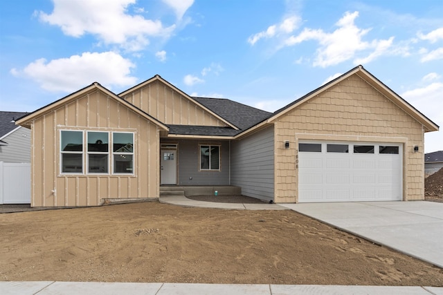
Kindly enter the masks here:
[[262, 111], [252, 106], [246, 106], [246, 104], [240, 104], [230, 99], [208, 97], [192, 98], [241, 129], [237, 133], [245, 131], [273, 115], [273, 113]]

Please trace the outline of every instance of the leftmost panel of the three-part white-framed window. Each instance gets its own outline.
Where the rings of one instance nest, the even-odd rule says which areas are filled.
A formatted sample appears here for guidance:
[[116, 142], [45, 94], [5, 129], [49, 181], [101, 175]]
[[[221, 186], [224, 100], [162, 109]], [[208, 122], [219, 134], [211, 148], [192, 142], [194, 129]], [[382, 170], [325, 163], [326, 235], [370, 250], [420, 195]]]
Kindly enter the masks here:
[[60, 150], [62, 173], [83, 173], [83, 132], [62, 131]]

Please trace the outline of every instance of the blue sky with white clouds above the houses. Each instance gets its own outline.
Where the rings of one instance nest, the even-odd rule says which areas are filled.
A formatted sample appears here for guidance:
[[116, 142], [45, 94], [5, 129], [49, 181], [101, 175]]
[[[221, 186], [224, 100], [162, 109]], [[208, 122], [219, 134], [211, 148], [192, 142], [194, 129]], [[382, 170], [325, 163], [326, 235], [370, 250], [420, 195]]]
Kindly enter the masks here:
[[275, 111], [359, 64], [443, 126], [443, 1], [0, 1], [1, 111], [156, 74]]

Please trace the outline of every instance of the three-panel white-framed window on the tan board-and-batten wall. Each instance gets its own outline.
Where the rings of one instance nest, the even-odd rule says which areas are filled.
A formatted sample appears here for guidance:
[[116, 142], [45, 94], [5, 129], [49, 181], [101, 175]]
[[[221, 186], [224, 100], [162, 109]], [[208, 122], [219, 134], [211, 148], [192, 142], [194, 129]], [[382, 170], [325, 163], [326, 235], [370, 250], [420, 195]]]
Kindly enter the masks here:
[[87, 131], [85, 135], [60, 131], [60, 173], [134, 173], [134, 133]]

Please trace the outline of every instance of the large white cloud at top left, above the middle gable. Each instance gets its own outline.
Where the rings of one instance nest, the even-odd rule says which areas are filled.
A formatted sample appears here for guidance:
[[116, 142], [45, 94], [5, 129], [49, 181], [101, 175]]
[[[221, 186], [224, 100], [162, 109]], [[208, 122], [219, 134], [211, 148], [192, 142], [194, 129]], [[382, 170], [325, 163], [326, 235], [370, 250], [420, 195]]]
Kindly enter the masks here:
[[51, 14], [37, 12], [39, 19], [60, 26], [65, 35], [96, 35], [105, 44], [119, 44], [127, 50], [141, 50], [149, 44], [147, 37], [169, 37], [175, 28], [163, 28], [159, 20], [127, 14], [136, 0], [53, 0]]

